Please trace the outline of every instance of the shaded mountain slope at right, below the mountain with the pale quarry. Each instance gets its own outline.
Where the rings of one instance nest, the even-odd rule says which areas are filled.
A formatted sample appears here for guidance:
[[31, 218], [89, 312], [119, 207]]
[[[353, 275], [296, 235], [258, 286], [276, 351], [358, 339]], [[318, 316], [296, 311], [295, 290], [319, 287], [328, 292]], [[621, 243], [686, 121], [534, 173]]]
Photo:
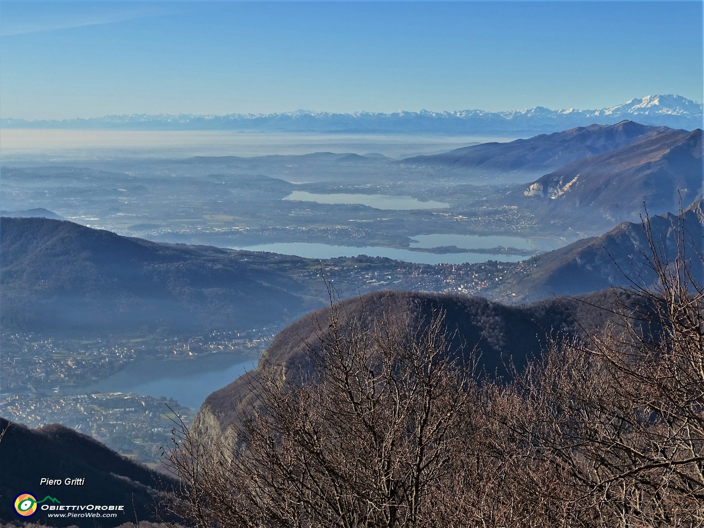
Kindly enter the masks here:
[[[672, 263], [681, 238], [685, 256], [698, 281], [704, 281], [704, 213], [702, 200], [678, 215], [650, 217], [652, 239], [660, 258]], [[499, 296], [535, 301], [551, 296], [584, 294], [611, 286], [643, 287], [655, 282], [648, 269], [648, 239], [641, 223], [622, 222], [601, 237], [578, 240], [524, 261], [509, 272]]]

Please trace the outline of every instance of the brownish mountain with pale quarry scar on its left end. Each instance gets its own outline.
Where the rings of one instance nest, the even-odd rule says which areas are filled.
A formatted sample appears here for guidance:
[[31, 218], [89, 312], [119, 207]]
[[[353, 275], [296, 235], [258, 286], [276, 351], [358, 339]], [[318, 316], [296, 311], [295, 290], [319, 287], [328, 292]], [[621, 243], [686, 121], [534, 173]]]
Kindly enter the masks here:
[[645, 202], [652, 213], [689, 206], [702, 192], [702, 131], [670, 131], [584, 158], [544, 175], [517, 203], [546, 215], [636, 220]]

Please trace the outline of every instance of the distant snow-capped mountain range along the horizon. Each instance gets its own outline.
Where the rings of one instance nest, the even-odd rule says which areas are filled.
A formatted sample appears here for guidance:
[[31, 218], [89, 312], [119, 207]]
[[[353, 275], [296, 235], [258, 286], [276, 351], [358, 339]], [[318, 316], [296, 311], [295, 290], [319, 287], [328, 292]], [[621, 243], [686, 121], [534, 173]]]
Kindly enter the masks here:
[[131, 114], [102, 118], [36, 120], [2, 118], [4, 128], [108, 130], [249, 130], [252, 132], [379, 132], [476, 134], [555, 132], [632, 120], [642, 125], [694, 130], [702, 127], [702, 104], [678, 95], [653, 95], [597, 110], [551, 110], [542, 106], [505, 112], [462, 110], [393, 113], [328, 113], [298, 110], [269, 114]]

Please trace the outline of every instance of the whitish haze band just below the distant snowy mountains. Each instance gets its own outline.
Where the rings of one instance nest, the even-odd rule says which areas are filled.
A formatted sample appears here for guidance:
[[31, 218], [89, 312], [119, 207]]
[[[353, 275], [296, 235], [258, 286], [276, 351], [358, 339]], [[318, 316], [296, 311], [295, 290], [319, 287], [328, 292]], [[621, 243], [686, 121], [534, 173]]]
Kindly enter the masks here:
[[8, 160], [81, 159], [96, 156], [188, 158], [190, 156], [271, 156], [313, 152], [380, 153], [403, 158], [515, 137], [422, 136], [417, 134], [294, 134], [291, 132], [0, 130]]

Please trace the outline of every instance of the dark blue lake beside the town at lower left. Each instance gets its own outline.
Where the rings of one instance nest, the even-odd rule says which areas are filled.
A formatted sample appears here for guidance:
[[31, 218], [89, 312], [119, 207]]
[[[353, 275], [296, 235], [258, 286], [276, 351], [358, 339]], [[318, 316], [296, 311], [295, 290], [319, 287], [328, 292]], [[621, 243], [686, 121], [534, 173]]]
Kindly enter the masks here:
[[128, 363], [111, 377], [90, 385], [66, 389], [73, 394], [89, 392], [136, 392], [144, 396], [173, 398], [198, 410], [213, 391], [222, 389], [248, 370], [258, 358], [213, 353], [183, 360], [143, 360]]

